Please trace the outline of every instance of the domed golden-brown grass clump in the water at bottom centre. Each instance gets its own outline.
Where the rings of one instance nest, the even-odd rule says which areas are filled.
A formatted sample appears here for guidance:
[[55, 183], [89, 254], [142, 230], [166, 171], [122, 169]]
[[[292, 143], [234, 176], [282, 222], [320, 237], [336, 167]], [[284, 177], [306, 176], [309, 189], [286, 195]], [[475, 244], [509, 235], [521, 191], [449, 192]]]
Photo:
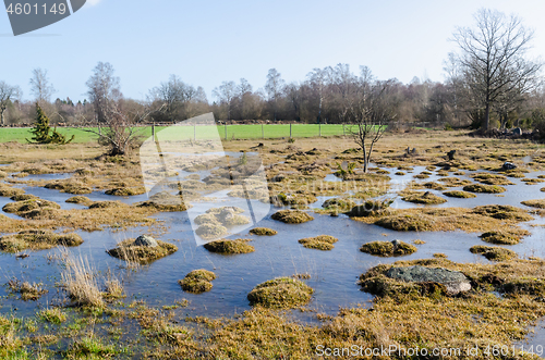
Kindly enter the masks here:
[[311, 301], [314, 290], [305, 283], [291, 277], [277, 277], [254, 287], [247, 295], [252, 306], [291, 309]]

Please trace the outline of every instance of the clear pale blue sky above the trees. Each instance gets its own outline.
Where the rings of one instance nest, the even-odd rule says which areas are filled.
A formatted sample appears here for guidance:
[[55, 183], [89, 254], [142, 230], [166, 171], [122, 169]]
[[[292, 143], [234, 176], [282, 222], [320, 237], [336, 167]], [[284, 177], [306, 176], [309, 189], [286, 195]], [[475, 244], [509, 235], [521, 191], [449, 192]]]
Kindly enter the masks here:
[[[21, 0], [23, 1], [23, 0]], [[444, 80], [457, 26], [481, 9], [514, 13], [535, 30], [545, 58], [543, 0], [87, 0], [71, 16], [14, 37], [0, 14], [0, 80], [31, 99], [33, 69], [48, 71], [55, 98], [83, 100], [99, 61], [110, 62], [125, 97], [144, 100], [175, 74], [211, 91], [246, 78], [262, 88], [269, 69], [287, 83], [315, 67], [366, 65], [380, 79]]]

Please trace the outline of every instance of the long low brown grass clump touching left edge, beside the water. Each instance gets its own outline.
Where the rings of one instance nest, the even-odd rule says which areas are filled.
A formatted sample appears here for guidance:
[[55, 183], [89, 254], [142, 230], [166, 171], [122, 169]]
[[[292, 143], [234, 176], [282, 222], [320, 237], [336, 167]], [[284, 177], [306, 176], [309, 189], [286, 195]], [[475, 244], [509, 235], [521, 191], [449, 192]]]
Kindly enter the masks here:
[[83, 239], [77, 234], [59, 235], [47, 231], [29, 229], [0, 237], [0, 250], [19, 252], [26, 249], [43, 250], [57, 246], [78, 246]]

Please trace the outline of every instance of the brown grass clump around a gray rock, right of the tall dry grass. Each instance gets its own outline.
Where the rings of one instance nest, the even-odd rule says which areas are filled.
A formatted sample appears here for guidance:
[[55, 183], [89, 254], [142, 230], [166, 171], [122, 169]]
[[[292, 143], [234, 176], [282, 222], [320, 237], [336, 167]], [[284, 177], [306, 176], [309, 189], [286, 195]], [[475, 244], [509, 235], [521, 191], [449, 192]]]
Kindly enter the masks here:
[[178, 251], [178, 247], [172, 244], [157, 240], [158, 246], [136, 246], [134, 239], [126, 239], [118, 244], [118, 247], [107, 250], [110, 256], [131, 262], [147, 264], [155, 260], [165, 258]]

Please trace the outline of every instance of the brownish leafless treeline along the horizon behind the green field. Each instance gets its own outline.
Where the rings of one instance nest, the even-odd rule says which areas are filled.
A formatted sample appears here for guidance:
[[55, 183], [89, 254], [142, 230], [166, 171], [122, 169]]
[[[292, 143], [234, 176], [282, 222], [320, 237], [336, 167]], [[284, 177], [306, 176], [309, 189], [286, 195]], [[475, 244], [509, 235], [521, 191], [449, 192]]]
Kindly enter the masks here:
[[[447, 69], [448, 70], [448, 69]], [[47, 72], [41, 82], [46, 83]], [[41, 108], [55, 125], [87, 125], [98, 121], [92, 100], [74, 102], [70, 98], [50, 101], [50, 94], [23, 101], [16, 91], [5, 99], [9, 86], [0, 82], [0, 101], [3, 101], [2, 120], [5, 125], [32, 124], [35, 103]], [[47, 88], [47, 87], [46, 87]], [[51, 87], [52, 89], [52, 87]], [[39, 90], [39, 89], [38, 89]], [[398, 79], [380, 80], [370, 69], [361, 66], [353, 73], [348, 64], [314, 69], [299, 83], [286, 83], [281, 74], [269, 70], [264, 88], [254, 90], [244, 78], [223, 82], [214, 89], [209, 101], [202, 87], [184, 83], [175, 75], [148, 91], [145, 100], [133, 100], [117, 95], [117, 100], [126, 113], [146, 114], [138, 122], [175, 123], [206, 112], [214, 112], [220, 121], [270, 121], [337, 124], [356, 121], [361, 103], [371, 98], [373, 91], [380, 92], [396, 123], [426, 122], [449, 124], [452, 127], [479, 127], [483, 121], [483, 108], [475, 105], [468, 95], [468, 85], [460, 75], [449, 74], [444, 83], [414, 77], [403, 84]], [[33, 94], [36, 91], [33, 91]], [[52, 92], [52, 91], [51, 91]], [[3, 100], [2, 100], [2, 94]], [[498, 102], [491, 110], [491, 126], [532, 128], [545, 122], [545, 87], [521, 94], [516, 101]]]

